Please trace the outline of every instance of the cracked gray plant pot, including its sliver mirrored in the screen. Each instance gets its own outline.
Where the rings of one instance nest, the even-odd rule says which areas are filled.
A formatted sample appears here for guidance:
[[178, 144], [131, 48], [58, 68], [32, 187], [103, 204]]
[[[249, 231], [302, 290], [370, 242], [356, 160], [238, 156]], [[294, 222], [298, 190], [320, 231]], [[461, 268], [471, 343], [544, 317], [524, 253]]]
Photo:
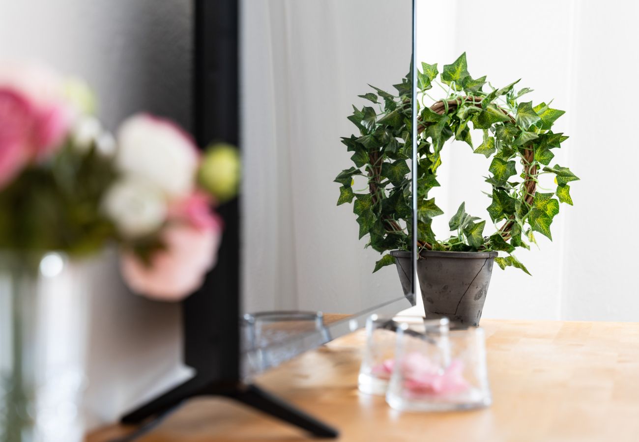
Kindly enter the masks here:
[[[410, 252], [391, 254], [406, 294], [404, 287], [410, 289]], [[426, 318], [445, 316], [463, 325], [479, 325], [495, 257], [497, 252], [422, 251], [417, 278]]]

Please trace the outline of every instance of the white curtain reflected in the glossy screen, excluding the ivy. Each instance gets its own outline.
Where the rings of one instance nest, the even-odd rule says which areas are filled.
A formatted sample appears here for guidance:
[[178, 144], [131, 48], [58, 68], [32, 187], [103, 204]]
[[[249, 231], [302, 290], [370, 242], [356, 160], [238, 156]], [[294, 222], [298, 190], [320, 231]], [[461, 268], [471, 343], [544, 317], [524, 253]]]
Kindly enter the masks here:
[[332, 181], [351, 166], [351, 103], [408, 72], [410, 1], [241, 4], [245, 310], [354, 313], [403, 296], [395, 268], [371, 275], [380, 254]]

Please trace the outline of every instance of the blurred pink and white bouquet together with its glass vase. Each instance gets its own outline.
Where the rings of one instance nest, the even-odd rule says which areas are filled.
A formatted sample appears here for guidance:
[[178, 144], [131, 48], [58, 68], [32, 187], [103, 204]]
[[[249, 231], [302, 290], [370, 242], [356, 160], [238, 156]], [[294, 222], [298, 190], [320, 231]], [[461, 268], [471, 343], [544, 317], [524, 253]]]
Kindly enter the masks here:
[[0, 65], [0, 441], [79, 442], [89, 260], [118, 250], [135, 292], [180, 300], [216, 261], [239, 164], [137, 114], [116, 137], [79, 80]]

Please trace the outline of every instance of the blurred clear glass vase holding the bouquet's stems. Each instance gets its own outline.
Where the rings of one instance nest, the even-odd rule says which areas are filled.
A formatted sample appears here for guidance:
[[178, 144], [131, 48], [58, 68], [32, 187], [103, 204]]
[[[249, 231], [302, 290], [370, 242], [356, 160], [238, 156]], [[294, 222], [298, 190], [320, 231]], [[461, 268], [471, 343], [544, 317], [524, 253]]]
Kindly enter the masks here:
[[88, 299], [65, 255], [0, 252], [0, 442], [80, 442]]

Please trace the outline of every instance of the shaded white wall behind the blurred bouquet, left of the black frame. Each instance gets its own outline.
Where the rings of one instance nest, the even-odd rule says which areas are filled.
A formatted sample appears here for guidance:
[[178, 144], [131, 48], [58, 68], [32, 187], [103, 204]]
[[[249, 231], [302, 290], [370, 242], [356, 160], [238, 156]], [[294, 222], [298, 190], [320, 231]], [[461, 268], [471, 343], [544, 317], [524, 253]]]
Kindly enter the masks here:
[[[79, 75], [114, 129], [148, 110], [190, 125], [190, 0], [0, 0], [0, 62], [43, 59]], [[128, 293], [114, 259], [92, 270], [87, 411], [109, 422], [185, 375], [180, 307]]]

